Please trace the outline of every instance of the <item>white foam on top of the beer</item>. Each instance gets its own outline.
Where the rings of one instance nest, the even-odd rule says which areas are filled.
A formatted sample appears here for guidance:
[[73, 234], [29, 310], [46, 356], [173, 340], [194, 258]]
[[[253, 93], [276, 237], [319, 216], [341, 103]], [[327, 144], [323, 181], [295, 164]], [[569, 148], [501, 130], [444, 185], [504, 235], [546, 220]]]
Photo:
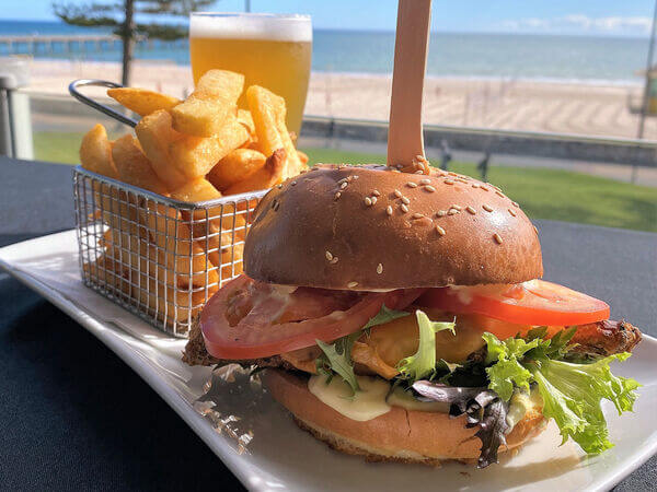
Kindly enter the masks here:
[[307, 15], [198, 13], [192, 15], [189, 37], [310, 43], [312, 25]]

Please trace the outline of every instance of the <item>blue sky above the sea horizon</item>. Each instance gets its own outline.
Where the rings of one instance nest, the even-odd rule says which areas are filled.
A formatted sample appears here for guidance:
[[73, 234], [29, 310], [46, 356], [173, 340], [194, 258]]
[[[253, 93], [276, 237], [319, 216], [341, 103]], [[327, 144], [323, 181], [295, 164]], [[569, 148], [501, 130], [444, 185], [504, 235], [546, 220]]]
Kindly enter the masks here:
[[[51, 2], [3, 1], [0, 19], [53, 20]], [[431, 25], [436, 31], [647, 36], [654, 5], [654, 0], [434, 0]], [[210, 10], [243, 7], [243, 0], [221, 0]], [[308, 13], [318, 28], [393, 31], [396, 2], [252, 0], [252, 10]]]

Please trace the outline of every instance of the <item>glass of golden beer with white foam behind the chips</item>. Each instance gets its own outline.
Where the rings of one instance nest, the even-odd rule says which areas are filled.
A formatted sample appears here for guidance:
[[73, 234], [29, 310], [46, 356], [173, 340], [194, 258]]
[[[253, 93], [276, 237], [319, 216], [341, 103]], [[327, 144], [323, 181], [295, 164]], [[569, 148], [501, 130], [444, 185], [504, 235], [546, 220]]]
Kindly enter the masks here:
[[[288, 129], [299, 134], [310, 78], [310, 16], [193, 13], [189, 54], [195, 83], [208, 70], [231, 70], [244, 74], [244, 89], [257, 84], [283, 96]], [[239, 105], [246, 107], [244, 94]]]

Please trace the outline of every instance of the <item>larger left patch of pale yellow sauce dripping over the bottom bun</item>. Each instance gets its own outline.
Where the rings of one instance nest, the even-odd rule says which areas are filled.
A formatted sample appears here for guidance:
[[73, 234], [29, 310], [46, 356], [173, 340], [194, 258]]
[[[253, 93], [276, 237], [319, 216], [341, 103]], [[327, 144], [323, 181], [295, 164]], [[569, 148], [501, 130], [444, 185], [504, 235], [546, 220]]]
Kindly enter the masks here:
[[390, 383], [380, 377], [357, 376], [360, 391], [351, 397], [351, 390], [341, 377], [326, 384], [324, 376], [311, 376], [308, 389], [324, 405], [348, 419], [365, 422], [388, 413], [391, 406], [385, 401]]

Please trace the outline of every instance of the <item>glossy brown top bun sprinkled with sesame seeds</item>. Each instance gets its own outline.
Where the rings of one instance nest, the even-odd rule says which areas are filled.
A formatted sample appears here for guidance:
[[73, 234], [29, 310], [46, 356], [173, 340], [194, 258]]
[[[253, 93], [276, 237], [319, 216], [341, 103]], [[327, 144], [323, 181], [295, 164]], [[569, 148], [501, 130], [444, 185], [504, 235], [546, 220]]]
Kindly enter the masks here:
[[520, 283], [543, 265], [535, 227], [493, 185], [437, 169], [316, 165], [263, 198], [244, 271], [367, 291]]

